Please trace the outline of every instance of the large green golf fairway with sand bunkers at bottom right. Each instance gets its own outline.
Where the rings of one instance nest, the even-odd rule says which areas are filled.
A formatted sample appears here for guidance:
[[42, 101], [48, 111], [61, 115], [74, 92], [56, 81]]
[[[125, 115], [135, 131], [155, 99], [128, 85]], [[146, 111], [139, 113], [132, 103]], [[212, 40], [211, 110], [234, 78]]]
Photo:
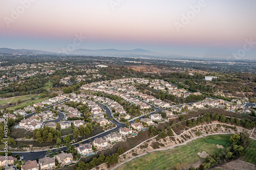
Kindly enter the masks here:
[[[228, 141], [223, 144], [224, 148], [230, 146], [229, 138], [232, 134], [227, 135], [211, 135], [206, 136], [206, 139], [218, 139]], [[188, 164], [197, 163], [200, 158], [198, 152], [207, 152], [208, 154], [221, 153], [224, 149], [218, 149], [216, 143], [207, 143], [204, 138], [199, 138], [188, 142], [185, 145], [177, 146], [171, 150], [156, 151], [146, 154], [142, 157], [135, 158], [117, 169], [174, 169], [179, 162], [187, 162]]]

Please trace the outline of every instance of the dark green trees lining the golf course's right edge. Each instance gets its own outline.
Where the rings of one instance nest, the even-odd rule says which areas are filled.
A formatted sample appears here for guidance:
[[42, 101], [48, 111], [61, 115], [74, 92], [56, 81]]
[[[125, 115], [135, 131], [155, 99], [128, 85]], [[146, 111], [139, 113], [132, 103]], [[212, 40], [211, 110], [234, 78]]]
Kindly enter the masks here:
[[[198, 170], [204, 170], [211, 167], [215, 167], [227, 161], [237, 159], [243, 153], [243, 147], [246, 147], [246, 143], [249, 140], [249, 134], [247, 132], [234, 134], [230, 137], [231, 146], [227, 148], [226, 152], [218, 155], [211, 154], [207, 156], [203, 162], [197, 168]], [[190, 167], [190, 170], [196, 170], [195, 167]]]

